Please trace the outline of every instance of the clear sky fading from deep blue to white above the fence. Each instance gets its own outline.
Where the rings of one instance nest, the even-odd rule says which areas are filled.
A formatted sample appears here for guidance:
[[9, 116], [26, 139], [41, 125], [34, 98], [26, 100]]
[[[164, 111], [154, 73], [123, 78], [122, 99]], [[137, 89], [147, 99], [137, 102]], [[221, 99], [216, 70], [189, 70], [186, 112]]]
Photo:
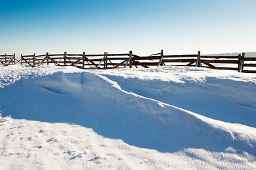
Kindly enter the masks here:
[[0, 53], [256, 51], [255, 0], [1, 0]]

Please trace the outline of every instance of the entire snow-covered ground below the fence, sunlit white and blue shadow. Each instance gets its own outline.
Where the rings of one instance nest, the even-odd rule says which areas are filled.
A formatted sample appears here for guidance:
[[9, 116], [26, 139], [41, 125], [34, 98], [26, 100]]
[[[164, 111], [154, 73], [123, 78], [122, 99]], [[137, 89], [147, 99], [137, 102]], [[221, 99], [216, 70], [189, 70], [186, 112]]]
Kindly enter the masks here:
[[256, 74], [0, 73], [0, 169], [256, 169]]

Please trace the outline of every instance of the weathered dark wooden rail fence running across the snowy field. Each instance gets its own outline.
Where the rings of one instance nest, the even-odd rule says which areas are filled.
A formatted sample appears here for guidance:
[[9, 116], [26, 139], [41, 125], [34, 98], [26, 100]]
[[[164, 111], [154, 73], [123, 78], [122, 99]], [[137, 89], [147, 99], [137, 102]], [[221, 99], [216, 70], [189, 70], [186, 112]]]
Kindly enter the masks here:
[[[8, 55], [4, 55], [8, 56]], [[21, 55], [21, 60], [16, 60], [15, 55], [9, 56], [7, 62], [2, 62], [5, 66], [17, 61], [27, 67], [38, 67], [44, 64], [55, 64], [56, 66], [74, 66], [80, 69], [115, 69], [120, 67], [144, 67], [174, 65], [188, 67], [206, 67], [210, 69], [237, 70], [238, 72], [256, 73], [256, 57], [245, 57], [245, 53], [233, 56], [213, 56], [213, 55], [164, 55], [164, 51], [149, 56], [134, 55], [132, 51], [124, 54], [102, 55], [82, 54], [52, 54], [46, 55]], [[14, 57], [14, 59], [11, 59]], [[12, 62], [13, 61], [13, 62]]]

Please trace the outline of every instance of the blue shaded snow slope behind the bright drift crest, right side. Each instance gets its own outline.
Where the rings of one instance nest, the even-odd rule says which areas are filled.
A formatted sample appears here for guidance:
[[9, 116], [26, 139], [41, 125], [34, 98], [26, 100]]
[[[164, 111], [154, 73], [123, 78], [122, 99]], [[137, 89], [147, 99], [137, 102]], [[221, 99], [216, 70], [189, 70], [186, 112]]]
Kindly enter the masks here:
[[215, 120], [256, 128], [256, 86], [250, 82], [207, 77], [182, 83], [104, 75], [125, 91], [154, 98]]

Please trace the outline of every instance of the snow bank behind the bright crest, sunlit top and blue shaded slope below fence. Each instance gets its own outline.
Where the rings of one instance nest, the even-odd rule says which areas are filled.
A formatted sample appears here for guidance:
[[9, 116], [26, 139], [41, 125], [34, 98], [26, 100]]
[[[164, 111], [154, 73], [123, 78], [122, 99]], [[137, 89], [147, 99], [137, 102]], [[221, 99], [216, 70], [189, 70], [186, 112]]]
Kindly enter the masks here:
[[[95, 71], [93, 71], [95, 72]], [[256, 75], [232, 71], [156, 67], [97, 71], [125, 91], [154, 98], [208, 118], [256, 128]]]

